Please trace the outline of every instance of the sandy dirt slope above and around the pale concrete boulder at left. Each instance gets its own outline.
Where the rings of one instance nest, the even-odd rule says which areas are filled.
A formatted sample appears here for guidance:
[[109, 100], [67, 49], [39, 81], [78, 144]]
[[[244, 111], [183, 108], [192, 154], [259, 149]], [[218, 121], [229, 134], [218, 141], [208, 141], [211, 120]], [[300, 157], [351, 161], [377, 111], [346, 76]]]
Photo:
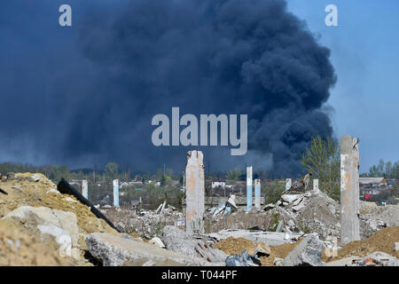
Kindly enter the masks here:
[[[21, 206], [44, 207], [74, 213], [79, 231], [78, 248], [80, 248], [81, 255], [79, 257], [82, 259], [82, 263], [79, 264], [87, 264], [83, 257], [86, 249], [84, 240], [86, 235], [90, 233], [119, 235], [110, 225], [106, 224], [103, 219], [96, 217], [88, 206], [82, 204], [74, 196], [59, 193], [57, 185], [40, 173], [9, 173], [1, 179], [0, 189], [3, 192], [0, 193], [0, 218]], [[26, 220], [12, 218], [12, 221], [12, 225], [8, 222], [9, 226], [12, 226], [18, 232], [37, 237], [36, 239], [48, 248], [57, 249], [59, 247], [54, 237], [48, 234], [39, 236], [40, 232], [37, 227], [26, 222]]]

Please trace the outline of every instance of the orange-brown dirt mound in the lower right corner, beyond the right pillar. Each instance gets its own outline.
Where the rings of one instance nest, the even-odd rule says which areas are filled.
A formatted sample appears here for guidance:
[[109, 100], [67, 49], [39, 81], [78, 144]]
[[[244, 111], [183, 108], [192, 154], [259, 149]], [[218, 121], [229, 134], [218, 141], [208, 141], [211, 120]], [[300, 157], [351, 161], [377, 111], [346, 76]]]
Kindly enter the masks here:
[[399, 226], [387, 227], [379, 230], [370, 238], [349, 242], [348, 245], [338, 250], [336, 257], [326, 256], [324, 250], [322, 260], [331, 262], [348, 256], [367, 256], [374, 251], [382, 251], [399, 258], [399, 252], [394, 251], [395, 241], [399, 241]]

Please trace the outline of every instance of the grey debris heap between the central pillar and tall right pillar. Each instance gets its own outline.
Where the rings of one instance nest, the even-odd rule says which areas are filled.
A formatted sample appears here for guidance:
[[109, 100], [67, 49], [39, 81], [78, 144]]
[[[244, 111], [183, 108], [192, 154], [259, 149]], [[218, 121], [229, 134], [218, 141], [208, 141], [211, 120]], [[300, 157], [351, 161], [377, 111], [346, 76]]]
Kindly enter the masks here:
[[340, 204], [322, 192], [286, 193], [275, 204], [265, 205], [262, 211], [254, 209], [246, 213], [237, 210], [208, 219], [211, 233], [223, 229], [257, 228], [290, 236], [318, 233], [324, 240], [340, 235]]

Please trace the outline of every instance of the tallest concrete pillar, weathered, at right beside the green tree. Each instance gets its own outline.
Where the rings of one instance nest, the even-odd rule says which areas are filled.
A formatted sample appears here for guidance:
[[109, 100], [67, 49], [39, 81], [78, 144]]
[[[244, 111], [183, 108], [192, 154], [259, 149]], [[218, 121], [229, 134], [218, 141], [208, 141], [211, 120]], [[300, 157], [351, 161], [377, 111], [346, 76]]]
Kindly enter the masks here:
[[340, 138], [340, 244], [360, 240], [359, 138]]

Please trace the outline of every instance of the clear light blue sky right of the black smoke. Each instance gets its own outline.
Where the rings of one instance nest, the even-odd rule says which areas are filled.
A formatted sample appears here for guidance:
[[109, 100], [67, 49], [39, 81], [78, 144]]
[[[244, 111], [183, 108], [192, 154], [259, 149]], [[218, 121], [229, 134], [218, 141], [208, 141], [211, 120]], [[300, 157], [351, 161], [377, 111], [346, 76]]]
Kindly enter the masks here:
[[[338, 8], [338, 27], [325, 26], [327, 4]], [[360, 170], [399, 160], [399, 1], [289, 0], [288, 8], [332, 51], [333, 127], [338, 138], [360, 138]]]

